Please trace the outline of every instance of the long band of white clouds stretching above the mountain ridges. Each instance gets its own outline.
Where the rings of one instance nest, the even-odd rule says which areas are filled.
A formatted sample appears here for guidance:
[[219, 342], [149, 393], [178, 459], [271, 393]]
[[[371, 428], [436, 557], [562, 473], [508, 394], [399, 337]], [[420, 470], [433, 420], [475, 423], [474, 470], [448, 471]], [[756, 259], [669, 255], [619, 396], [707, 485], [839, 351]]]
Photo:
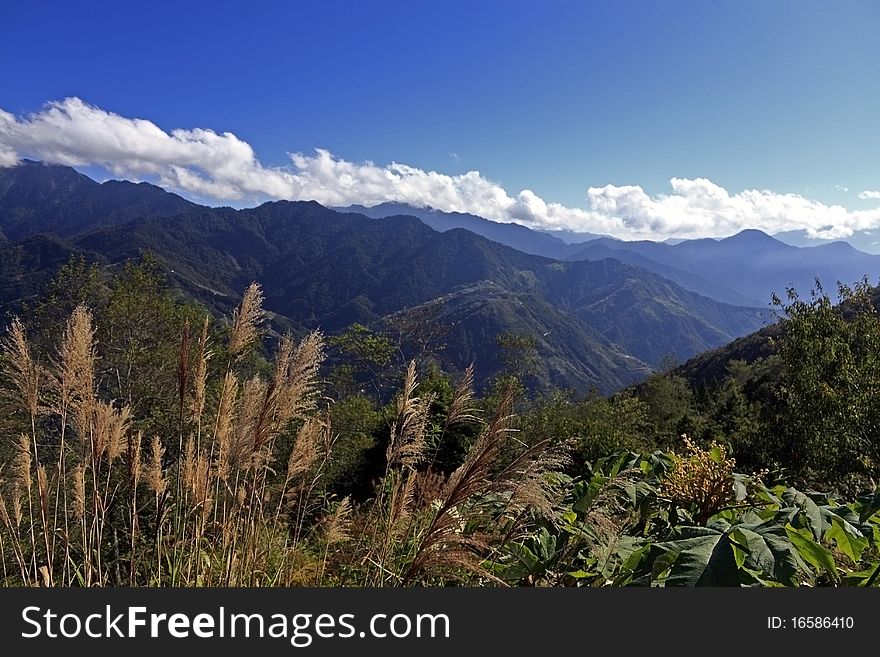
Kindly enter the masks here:
[[[624, 239], [723, 237], [745, 228], [803, 229], [811, 237], [839, 239], [880, 227], [880, 207], [850, 210], [768, 190], [731, 194], [705, 178], [672, 178], [671, 193], [653, 196], [638, 185], [589, 187], [585, 207], [571, 208], [528, 189], [511, 195], [478, 171], [448, 175], [396, 162], [349, 162], [320, 148], [291, 154], [289, 166], [266, 167], [250, 144], [230, 132], [166, 132], [151, 121], [79, 98], [50, 102], [26, 116], [0, 109], [0, 167], [14, 166], [22, 157], [97, 165], [116, 176], [151, 179], [219, 202], [288, 199], [369, 206], [395, 201]], [[858, 196], [880, 200], [877, 191]]]

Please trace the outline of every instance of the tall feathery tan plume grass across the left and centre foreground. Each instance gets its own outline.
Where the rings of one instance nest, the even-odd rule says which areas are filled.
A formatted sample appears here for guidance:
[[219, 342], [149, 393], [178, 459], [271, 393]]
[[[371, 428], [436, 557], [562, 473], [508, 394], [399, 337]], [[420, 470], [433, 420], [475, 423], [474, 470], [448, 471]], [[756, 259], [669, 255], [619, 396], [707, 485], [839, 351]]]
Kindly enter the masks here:
[[[512, 396], [477, 418], [472, 370], [442, 421], [414, 364], [396, 402], [384, 476], [355, 504], [322, 486], [334, 435], [321, 397], [319, 332], [277, 345], [266, 375], [242, 360], [259, 336], [256, 284], [225, 350], [210, 318], [187, 323], [177, 357], [175, 435], [144, 435], [129, 406], [102, 398], [95, 321], [80, 306], [57, 357], [40, 364], [23, 323], [2, 343], [3, 379], [27, 429], [0, 466], [3, 583], [24, 586], [414, 585], [496, 582], [484, 566], [549, 510], [548, 443], [516, 447]], [[213, 363], [215, 352], [225, 362]], [[432, 469], [429, 445], [481, 423], [462, 465]], [[513, 444], [512, 451], [509, 446]]]

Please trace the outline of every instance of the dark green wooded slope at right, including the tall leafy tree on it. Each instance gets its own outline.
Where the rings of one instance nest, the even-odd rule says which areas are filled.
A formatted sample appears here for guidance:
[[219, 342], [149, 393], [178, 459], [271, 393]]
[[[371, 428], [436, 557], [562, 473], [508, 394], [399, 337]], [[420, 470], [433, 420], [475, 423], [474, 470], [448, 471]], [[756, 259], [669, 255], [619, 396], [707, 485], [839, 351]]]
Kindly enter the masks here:
[[[773, 298], [780, 321], [635, 389], [654, 444], [716, 440], [741, 467], [849, 494], [880, 479], [880, 317], [866, 280]], [[693, 388], [691, 388], [693, 385]]]

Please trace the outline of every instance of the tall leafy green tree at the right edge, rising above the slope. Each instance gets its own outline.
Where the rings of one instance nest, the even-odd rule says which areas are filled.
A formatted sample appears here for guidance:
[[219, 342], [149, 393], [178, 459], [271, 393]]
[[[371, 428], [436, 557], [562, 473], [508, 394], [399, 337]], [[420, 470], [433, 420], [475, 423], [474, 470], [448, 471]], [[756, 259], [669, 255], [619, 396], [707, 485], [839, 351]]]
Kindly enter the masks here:
[[880, 318], [866, 281], [838, 297], [834, 307], [817, 281], [809, 300], [774, 299], [785, 331], [773, 456], [808, 480], [857, 487], [880, 473]]

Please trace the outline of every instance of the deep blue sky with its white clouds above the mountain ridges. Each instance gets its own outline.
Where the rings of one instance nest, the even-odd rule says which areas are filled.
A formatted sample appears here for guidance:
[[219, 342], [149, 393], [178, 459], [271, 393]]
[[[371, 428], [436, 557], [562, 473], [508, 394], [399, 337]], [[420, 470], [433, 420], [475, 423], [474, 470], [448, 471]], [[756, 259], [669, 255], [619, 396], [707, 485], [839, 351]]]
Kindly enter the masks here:
[[[442, 209], [624, 236], [845, 236], [880, 224], [877, 199], [859, 198], [880, 189], [878, 26], [876, 2], [6, 2], [0, 147], [216, 202], [433, 193]], [[291, 153], [311, 175], [243, 183], [204, 158], [169, 173], [164, 156], [139, 170], [143, 154], [122, 162], [25, 125], [72, 97], [166, 133], [233, 133], [256, 177]], [[327, 189], [345, 175], [375, 187], [390, 163], [452, 177], [454, 193]], [[476, 186], [456, 182], [476, 171]], [[495, 187], [507, 197], [474, 200]]]

